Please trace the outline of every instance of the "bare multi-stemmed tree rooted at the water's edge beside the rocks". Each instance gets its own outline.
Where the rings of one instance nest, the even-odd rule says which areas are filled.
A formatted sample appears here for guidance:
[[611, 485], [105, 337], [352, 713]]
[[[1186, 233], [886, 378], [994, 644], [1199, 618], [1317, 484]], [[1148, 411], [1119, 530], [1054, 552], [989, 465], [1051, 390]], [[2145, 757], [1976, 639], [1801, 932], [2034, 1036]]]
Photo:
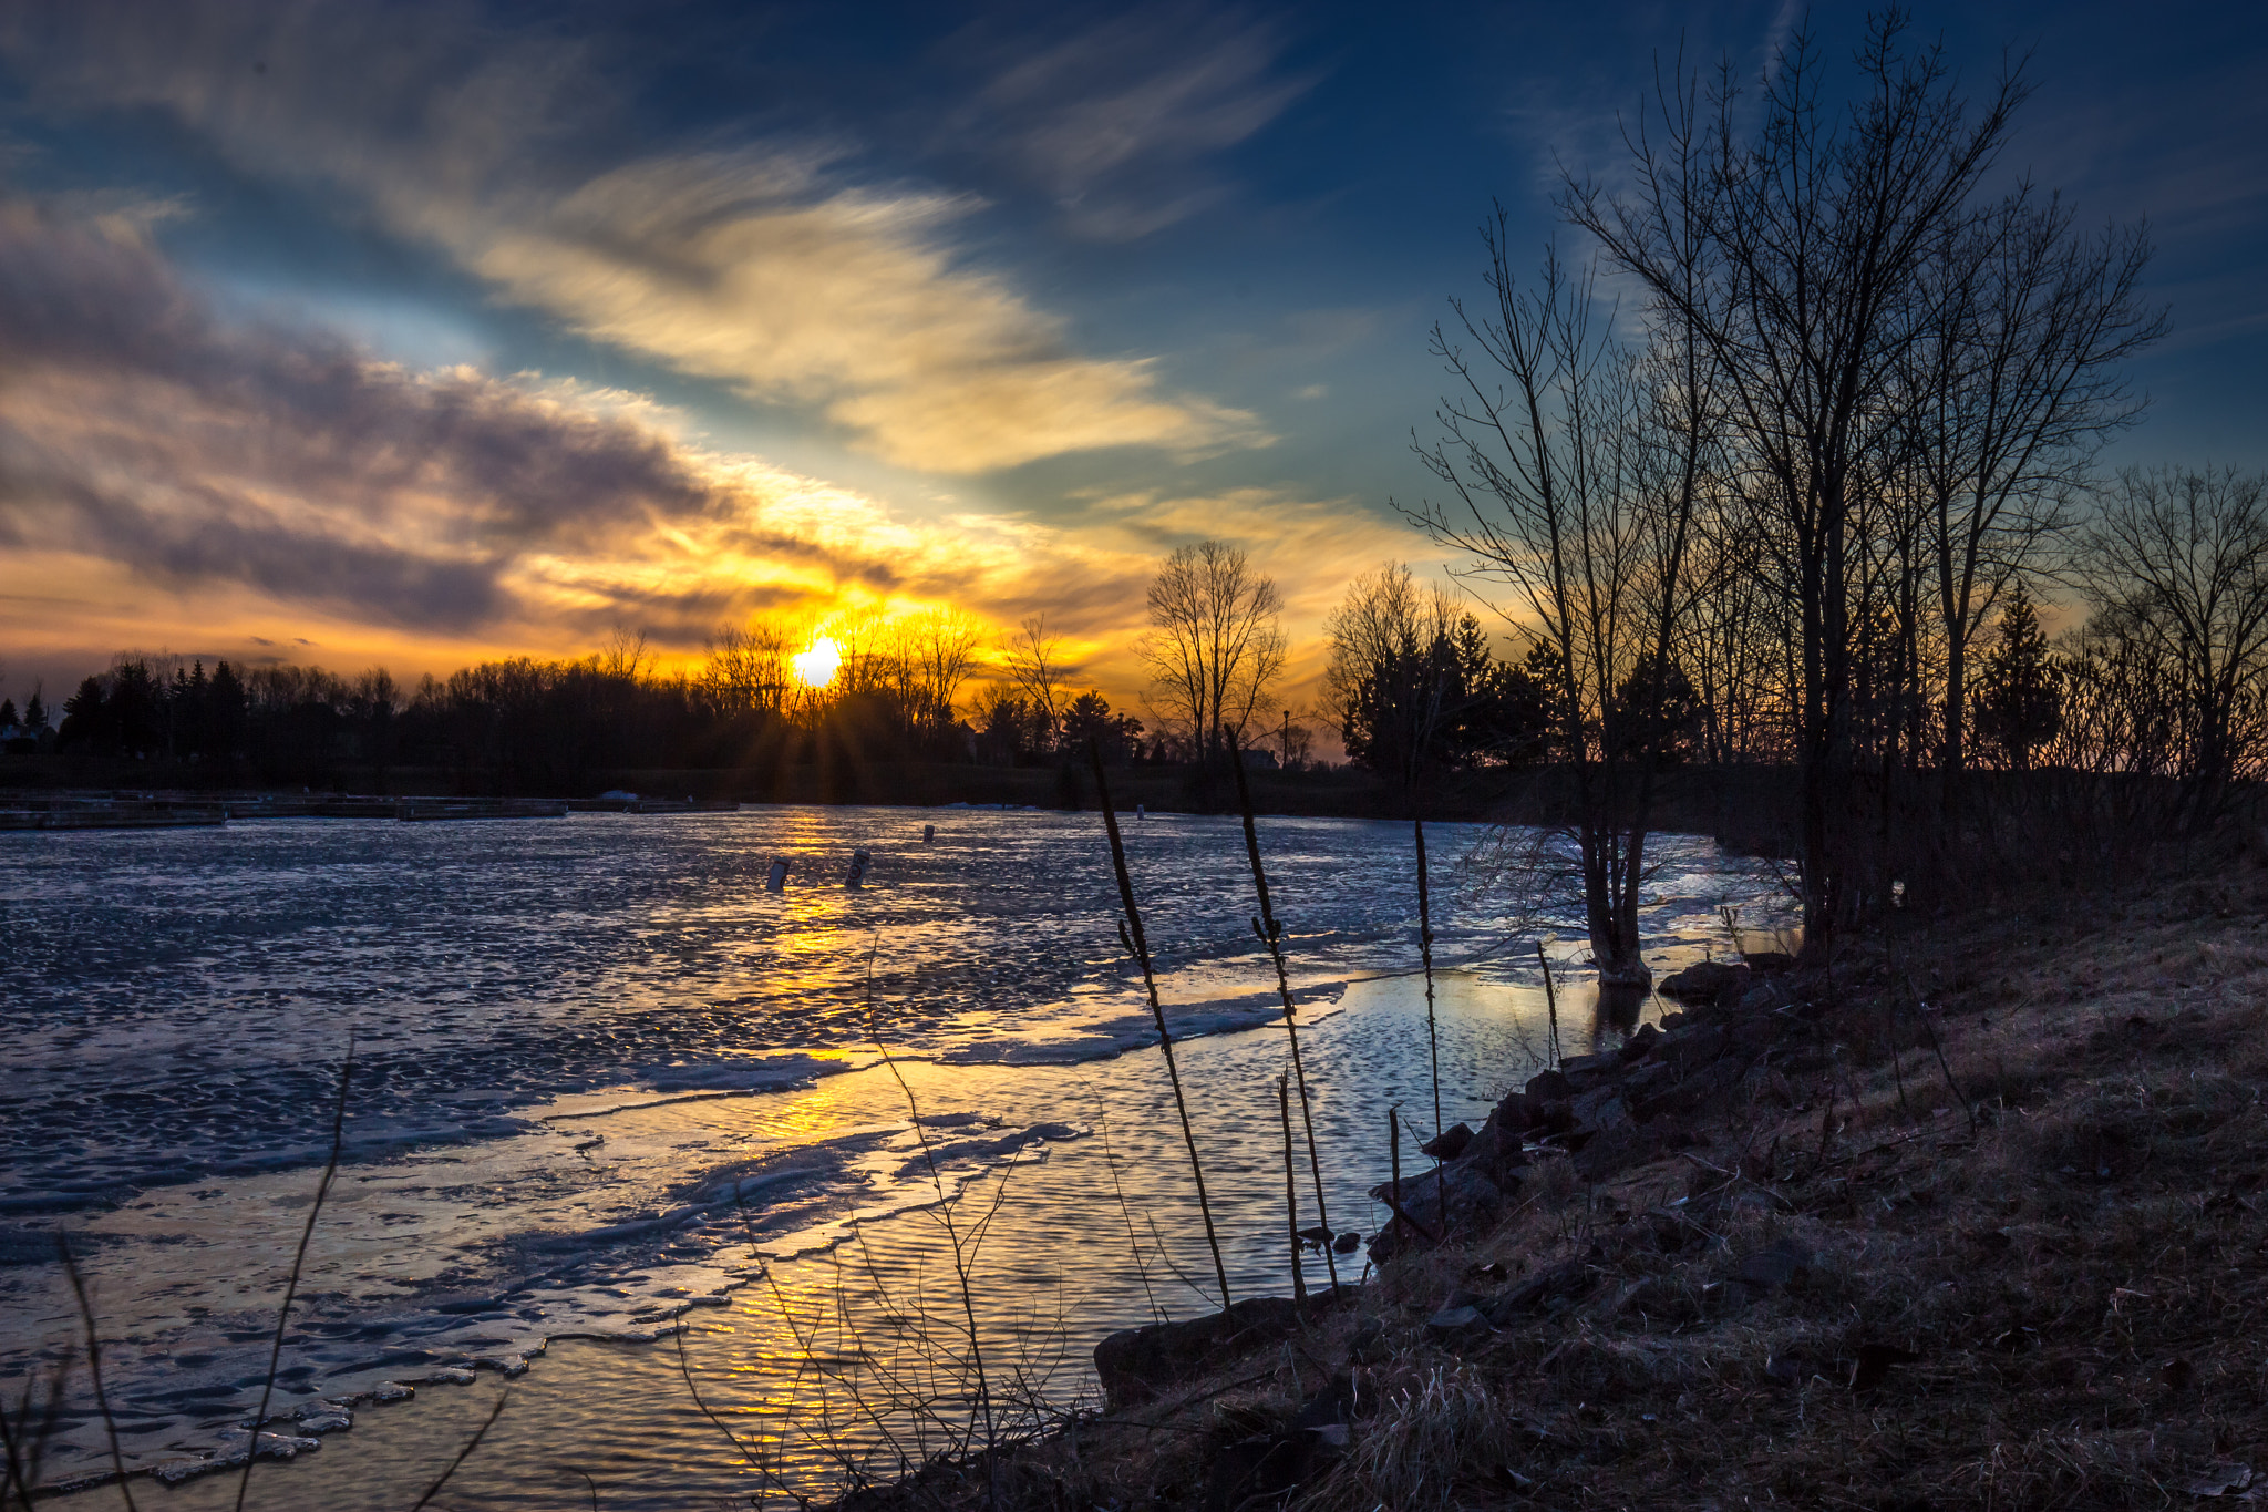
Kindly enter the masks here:
[[1452, 301], [1463, 340], [1433, 331], [1458, 392], [1438, 413], [1445, 440], [1420, 456], [1452, 501], [1411, 517], [1510, 589], [1499, 608], [1542, 651], [1554, 755], [1576, 784], [1592, 959], [1601, 982], [1642, 984], [1637, 898], [1715, 363], [1699, 342], [1624, 351], [1592, 324], [1590, 279], [1569, 281], [1556, 254], [1533, 292], [1520, 288], [1504, 206], [1483, 243], [1492, 306]]

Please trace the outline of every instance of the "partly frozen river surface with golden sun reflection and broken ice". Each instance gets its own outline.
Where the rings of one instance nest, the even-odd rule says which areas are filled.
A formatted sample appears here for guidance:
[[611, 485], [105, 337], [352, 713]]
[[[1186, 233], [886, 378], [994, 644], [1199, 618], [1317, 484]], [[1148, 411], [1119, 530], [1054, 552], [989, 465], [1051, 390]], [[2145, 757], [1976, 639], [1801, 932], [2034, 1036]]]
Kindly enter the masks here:
[[[1125, 830], [1232, 1292], [1286, 1292], [1288, 1056], [1241, 830]], [[1567, 1054], [1631, 1022], [1594, 1011], [1572, 898], [1515, 911], [1501, 834], [1427, 834], [1454, 1122], [1545, 1054], [1538, 936], [1565, 936]], [[1386, 1111], [1433, 1127], [1411, 834], [1263, 818], [1261, 843], [1329, 1217], [1368, 1235]], [[1656, 852], [1658, 970], [1721, 950], [1719, 907], [1776, 918], [1755, 864]], [[406, 1507], [503, 1390], [449, 1505], [746, 1505], [846, 1460], [889, 1473], [973, 1419], [980, 1351], [1000, 1421], [1068, 1403], [1105, 1333], [1218, 1306], [1116, 918], [1093, 814], [0, 836], [0, 1392], [68, 1369], [45, 1480], [109, 1467], [64, 1233], [122, 1460], [186, 1476], [143, 1505], [231, 1505], [234, 1476], [188, 1471], [243, 1453], [306, 1235], [270, 1405], [297, 1458], [261, 1462], [249, 1505]], [[1315, 1222], [1304, 1152], [1300, 1192]]]

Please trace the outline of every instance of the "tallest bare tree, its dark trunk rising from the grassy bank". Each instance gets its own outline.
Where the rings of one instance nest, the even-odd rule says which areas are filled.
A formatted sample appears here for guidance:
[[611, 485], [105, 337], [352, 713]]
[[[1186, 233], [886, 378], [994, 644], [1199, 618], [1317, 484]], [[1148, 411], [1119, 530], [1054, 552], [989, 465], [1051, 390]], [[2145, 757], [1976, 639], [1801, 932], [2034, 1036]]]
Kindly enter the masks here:
[[[1978, 224], [1971, 197], [2025, 97], [2003, 75], [1980, 111], [1941, 48], [1878, 16], [1844, 113], [1810, 27], [1778, 48], [1760, 109], [1730, 66], [1674, 77], [1631, 136], [1626, 195], [1569, 181], [1567, 215], [1724, 372], [1742, 494], [1796, 621], [1805, 952], [1823, 959], [1851, 898], [1848, 812], [1857, 517], [1898, 435], [1901, 379], [1944, 299], [1928, 274]], [[1708, 95], [1708, 97], [1703, 97]], [[1842, 116], [1842, 118], [1837, 118]], [[1753, 122], [1753, 125], [1751, 125]]]

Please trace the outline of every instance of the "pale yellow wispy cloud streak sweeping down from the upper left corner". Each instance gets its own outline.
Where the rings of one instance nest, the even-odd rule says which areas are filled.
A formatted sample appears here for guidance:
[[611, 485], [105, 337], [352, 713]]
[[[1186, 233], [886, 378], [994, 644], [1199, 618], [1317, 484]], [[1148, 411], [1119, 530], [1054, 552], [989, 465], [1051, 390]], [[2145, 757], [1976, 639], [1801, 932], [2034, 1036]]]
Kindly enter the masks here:
[[[513, 304], [816, 410], [903, 467], [1268, 440], [1252, 415], [1168, 392], [1148, 360], [1077, 351], [1061, 317], [971, 265], [953, 240], [968, 197], [860, 184], [841, 143], [624, 159], [603, 131], [610, 86], [574, 45], [442, 9], [231, 0], [18, 14], [0, 48], [52, 109], [168, 111], [243, 170], [345, 190]], [[1182, 97], [1213, 122], [1200, 138], [1238, 129], [1202, 82]]]

